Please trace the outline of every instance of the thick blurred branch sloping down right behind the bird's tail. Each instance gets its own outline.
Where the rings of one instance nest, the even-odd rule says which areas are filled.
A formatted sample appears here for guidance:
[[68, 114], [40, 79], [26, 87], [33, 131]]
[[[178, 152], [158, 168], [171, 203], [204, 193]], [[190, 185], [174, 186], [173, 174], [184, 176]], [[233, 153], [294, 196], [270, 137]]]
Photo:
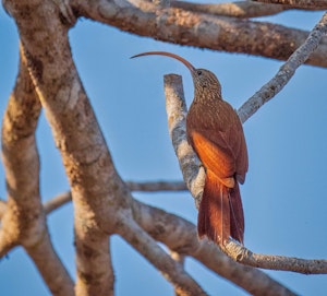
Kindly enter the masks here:
[[237, 284], [251, 295], [294, 295], [264, 272], [237, 263], [206, 239], [198, 240], [194, 224], [164, 210], [133, 200], [134, 217], [152, 237], [170, 250], [191, 256], [216, 274]]

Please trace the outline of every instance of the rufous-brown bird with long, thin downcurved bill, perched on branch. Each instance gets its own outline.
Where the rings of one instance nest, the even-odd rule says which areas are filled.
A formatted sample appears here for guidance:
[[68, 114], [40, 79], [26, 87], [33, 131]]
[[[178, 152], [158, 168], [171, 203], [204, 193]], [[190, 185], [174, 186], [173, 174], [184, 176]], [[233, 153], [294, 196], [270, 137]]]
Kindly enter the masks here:
[[249, 169], [242, 122], [221, 96], [221, 85], [209, 70], [196, 69], [184, 58], [167, 51], [133, 56], [166, 56], [182, 62], [191, 72], [194, 99], [186, 115], [186, 138], [201, 159], [205, 185], [198, 206], [197, 234], [218, 246], [229, 238], [244, 244], [244, 213], [239, 183]]

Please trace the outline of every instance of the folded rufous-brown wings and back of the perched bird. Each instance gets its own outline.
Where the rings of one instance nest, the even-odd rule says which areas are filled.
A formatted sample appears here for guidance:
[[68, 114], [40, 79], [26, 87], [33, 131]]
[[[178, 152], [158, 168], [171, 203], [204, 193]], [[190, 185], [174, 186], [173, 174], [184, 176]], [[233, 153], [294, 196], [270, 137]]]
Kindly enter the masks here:
[[[227, 187], [233, 187], [231, 177], [244, 182], [247, 171], [247, 150], [242, 123], [232, 109], [219, 102], [219, 114], [215, 108], [207, 110], [201, 122], [189, 122], [189, 141], [202, 163], [209, 168]], [[232, 178], [233, 179], [233, 178]]]

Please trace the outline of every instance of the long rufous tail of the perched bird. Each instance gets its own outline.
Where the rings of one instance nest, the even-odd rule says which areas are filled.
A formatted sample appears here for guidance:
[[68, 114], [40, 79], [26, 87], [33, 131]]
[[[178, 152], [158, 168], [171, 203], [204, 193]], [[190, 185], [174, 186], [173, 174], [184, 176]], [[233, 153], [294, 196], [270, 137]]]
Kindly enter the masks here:
[[198, 209], [197, 233], [220, 245], [229, 236], [243, 244], [244, 215], [239, 185], [228, 188], [207, 170]]

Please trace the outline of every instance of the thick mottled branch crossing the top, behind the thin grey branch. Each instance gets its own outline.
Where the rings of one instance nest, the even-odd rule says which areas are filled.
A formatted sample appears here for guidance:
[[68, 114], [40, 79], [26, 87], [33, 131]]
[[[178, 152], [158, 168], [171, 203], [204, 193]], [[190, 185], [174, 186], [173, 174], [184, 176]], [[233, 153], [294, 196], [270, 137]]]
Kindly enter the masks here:
[[[265, 22], [218, 17], [175, 8], [158, 10], [148, 2], [142, 2], [141, 8], [120, 8], [114, 2], [105, 0], [77, 0], [74, 2], [74, 10], [85, 17], [140, 36], [278, 60], [287, 60], [308, 35], [305, 31]], [[324, 38], [306, 62], [327, 67], [326, 52], [327, 39]]]

